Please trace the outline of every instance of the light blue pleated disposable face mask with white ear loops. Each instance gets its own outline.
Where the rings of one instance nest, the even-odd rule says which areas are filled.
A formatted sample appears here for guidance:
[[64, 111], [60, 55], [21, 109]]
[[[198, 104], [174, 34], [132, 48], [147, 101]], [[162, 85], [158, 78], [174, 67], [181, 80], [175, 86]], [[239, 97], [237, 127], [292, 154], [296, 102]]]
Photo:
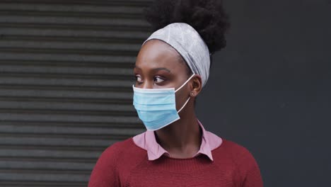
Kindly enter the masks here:
[[[185, 86], [192, 76], [185, 81], [182, 86]], [[134, 86], [134, 108], [136, 108], [140, 120], [144, 123], [147, 130], [159, 130], [165, 126], [180, 119], [178, 113], [182, 111], [190, 97], [184, 103], [179, 111], [176, 110], [175, 93], [177, 90], [170, 89], [139, 89]]]

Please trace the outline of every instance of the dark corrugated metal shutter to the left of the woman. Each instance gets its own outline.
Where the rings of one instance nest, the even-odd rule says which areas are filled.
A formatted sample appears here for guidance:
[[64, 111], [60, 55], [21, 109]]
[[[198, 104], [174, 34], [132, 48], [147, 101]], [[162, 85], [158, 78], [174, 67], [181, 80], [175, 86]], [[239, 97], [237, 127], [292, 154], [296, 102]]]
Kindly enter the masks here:
[[0, 186], [86, 186], [144, 131], [132, 64], [149, 1], [0, 1]]

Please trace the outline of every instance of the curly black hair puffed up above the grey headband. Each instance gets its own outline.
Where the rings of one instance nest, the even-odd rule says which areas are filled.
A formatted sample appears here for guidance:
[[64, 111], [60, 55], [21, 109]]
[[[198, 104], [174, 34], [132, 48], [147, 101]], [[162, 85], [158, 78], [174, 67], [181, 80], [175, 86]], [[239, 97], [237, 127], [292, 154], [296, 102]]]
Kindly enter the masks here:
[[214, 54], [226, 47], [224, 35], [230, 26], [221, 3], [221, 0], [155, 0], [144, 13], [152, 32], [170, 23], [189, 24]]

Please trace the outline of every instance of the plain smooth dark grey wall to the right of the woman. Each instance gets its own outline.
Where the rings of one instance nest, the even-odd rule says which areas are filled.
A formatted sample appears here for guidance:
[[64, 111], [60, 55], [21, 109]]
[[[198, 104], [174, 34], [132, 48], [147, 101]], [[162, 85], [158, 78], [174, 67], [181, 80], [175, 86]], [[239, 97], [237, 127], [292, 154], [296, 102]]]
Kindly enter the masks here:
[[330, 186], [331, 1], [226, 1], [232, 28], [197, 101], [265, 186]]

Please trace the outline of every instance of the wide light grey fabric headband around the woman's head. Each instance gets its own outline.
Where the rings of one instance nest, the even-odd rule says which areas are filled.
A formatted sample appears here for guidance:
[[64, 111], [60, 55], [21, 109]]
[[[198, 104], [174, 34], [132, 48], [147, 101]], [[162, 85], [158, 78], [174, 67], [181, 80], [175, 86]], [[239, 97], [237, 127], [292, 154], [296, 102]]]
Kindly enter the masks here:
[[162, 40], [175, 48], [191, 71], [201, 76], [202, 86], [206, 84], [210, 66], [209, 50], [197, 30], [187, 23], [171, 23], [156, 30], [145, 42], [152, 39]]

